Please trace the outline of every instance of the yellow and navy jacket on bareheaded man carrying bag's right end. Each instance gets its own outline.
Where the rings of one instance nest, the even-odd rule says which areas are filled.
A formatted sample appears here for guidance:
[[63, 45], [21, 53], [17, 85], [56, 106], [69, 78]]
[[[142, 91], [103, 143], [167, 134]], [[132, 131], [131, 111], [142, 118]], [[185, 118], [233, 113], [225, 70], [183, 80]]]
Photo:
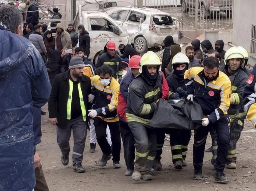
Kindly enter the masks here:
[[193, 94], [208, 119], [215, 123], [227, 114], [231, 100], [231, 82], [226, 74], [218, 71], [213, 80], [204, 77], [204, 68], [194, 67], [184, 75], [187, 94]]

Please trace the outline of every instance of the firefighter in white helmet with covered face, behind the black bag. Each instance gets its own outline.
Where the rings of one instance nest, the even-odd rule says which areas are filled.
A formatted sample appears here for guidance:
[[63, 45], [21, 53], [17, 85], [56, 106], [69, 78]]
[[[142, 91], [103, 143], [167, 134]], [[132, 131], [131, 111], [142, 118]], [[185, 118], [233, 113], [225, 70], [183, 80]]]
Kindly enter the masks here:
[[[177, 53], [172, 59], [173, 73], [167, 78], [169, 86], [168, 99], [184, 99], [187, 97], [184, 73], [189, 69], [189, 58], [183, 53]], [[165, 133], [170, 134], [170, 146], [174, 168], [181, 170], [186, 166], [186, 153], [191, 136], [191, 131], [181, 129], [158, 129], [157, 131], [157, 153], [153, 168], [161, 170], [161, 154], [164, 145]]]

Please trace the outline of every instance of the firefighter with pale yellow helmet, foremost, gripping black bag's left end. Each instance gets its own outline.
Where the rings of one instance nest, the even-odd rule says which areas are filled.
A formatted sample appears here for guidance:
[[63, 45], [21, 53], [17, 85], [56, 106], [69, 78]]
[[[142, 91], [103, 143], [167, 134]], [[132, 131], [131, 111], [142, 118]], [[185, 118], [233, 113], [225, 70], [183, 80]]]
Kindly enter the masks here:
[[162, 97], [163, 74], [159, 72], [161, 62], [152, 51], [140, 60], [140, 73], [129, 86], [126, 118], [135, 139], [135, 160], [132, 179], [152, 180], [149, 174], [155, 159], [157, 141], [156, 130], [150, 126]]

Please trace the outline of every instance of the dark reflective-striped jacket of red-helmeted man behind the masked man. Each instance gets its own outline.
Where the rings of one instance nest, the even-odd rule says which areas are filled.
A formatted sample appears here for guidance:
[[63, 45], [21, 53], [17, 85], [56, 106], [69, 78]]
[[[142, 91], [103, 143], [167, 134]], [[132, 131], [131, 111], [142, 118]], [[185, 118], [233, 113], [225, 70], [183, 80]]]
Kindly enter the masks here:
[[113, 77], [115, 79], [117, 78], [117, 76], [122, 77], [122, 74], [123, 74], [122, 59], [118, 54], [116, 54], [114, 57], [112, 57], [108, 52], [101, 54], [95, 67], [99, 68], [103, 64], [108, 65], [113, 69], [114, 71]]

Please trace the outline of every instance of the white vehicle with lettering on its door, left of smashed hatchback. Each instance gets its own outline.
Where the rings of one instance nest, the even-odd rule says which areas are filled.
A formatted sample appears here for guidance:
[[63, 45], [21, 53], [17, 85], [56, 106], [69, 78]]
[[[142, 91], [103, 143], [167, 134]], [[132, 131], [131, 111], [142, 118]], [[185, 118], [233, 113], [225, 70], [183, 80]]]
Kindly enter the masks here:
[[91, 48], [89, 59], [94, 63], [98, 60], [98, 54], [103, 50], [105, 44], [112, 40], [119, 44], [130, 44], [130, 38], [126, 30], [123, 30], [106, 13], [98, 11], [81, 11], [80, 22], [85, 26], [91, 38]]

